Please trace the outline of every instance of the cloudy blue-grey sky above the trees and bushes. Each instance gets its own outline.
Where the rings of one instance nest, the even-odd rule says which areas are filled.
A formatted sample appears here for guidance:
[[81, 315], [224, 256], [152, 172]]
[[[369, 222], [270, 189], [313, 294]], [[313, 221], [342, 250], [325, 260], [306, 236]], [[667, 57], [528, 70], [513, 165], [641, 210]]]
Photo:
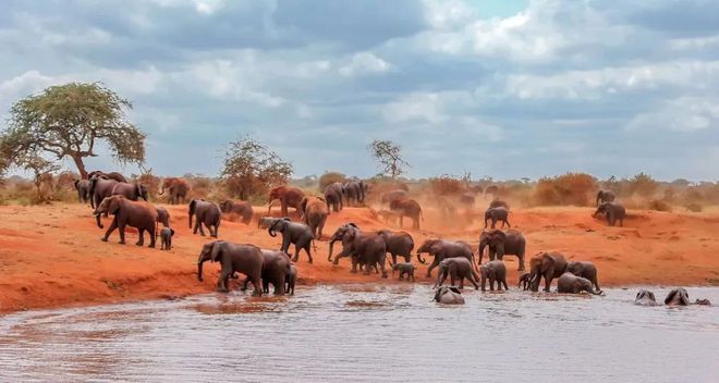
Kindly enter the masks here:
[[[156, 174], [220, 171], [246, 134], [295, 176], [719, 178], [716, 0], [15, 1], [0, 120], [47, 86], [134, 103]], [[70, 163], [68, 163], [70, 166]], [[121, 168], [107, 156], [88, 169]]]

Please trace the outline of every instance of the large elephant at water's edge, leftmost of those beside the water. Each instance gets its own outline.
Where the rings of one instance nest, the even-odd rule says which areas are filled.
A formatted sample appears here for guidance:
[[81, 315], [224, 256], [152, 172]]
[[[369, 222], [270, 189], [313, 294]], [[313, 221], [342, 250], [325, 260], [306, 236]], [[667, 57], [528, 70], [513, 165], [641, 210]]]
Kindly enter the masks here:
[[230, 277], [235, 273], [243, 273], [253, 283], [254, 296], [263, 295], [263, 263], [265, 257], [259, 247], [254, 245], [232, 244], [224, 240], [214, 240], [203, 246], [197, 258], [197, 280], [203, 281], [203, 263], [206, 261], [220, 262], [221, 271], [217, 280], [217, 291], [230, 291]]

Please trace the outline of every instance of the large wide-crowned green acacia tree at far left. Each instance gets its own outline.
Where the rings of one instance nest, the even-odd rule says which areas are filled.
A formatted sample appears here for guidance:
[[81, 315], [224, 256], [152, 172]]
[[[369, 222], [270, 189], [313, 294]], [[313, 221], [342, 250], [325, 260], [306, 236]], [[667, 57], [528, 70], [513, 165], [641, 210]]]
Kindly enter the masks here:
[[83, 159], [97, 157], [96, 144], [103, 140], [118, 162], [142, 163], [146, 135], [127, 121], [130, 109], [129, 100], [98, 83], [51, 86], [12, 106], [0, 157], [19, 168], [16, 159], [29, 156], [69, 157], [87, 177]]

